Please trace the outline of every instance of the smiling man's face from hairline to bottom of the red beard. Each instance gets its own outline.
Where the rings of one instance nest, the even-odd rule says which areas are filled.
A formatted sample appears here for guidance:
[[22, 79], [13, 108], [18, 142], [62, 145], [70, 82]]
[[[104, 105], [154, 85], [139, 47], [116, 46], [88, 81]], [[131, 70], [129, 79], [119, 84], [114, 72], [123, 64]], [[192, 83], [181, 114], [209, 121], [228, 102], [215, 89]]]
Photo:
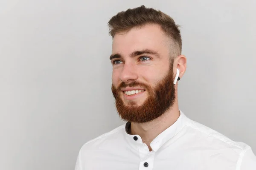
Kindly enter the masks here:
[[112, 92], [119, 116], [149, 122], [175, 101], [170, 40], [157, 25], [132, 28], [113, 38]]

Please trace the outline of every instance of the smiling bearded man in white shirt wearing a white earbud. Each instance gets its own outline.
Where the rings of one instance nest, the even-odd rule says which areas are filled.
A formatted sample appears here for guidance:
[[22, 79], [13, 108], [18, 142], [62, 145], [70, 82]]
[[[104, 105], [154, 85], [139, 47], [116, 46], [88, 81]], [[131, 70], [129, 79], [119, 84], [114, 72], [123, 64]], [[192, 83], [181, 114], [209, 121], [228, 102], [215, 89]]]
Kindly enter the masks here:
[[76, 170], [256, 170], [251, 148], [187, 118], [177, 85], [186, 71], [174, 20], [141, 6], [109, 21], [112, 92], [127, 121], [81, 147]]

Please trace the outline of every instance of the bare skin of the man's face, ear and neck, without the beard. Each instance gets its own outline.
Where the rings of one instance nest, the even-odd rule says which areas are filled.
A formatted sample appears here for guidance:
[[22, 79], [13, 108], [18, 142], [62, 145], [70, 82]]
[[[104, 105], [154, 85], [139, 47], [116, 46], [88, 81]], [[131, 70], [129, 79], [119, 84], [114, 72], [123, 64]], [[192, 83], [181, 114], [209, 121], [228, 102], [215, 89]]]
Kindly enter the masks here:
[[[118, 87], [122, 82], [129, 84], [136, 80], [154, 88], [169, 71], [171, 41], [160, 26], [156, 24], [148, 24], [142, 28], [132, 28], [129, 31], [117, 33], [113, 38], [112, 55], [120, 54], [120, 57], [111, 60], [113, 85]], [[131, 57], [132, 52], [145, 49], [155, 51], [157, 55], [145, 53]], [[174, 77], [176, 68], [179, 68], [179, 77], [182, 79], [186, 71], [186, 57], [184, 55], [175, 56], [173, 62]], [[176, 122], [180, 116], [177, 85], [178, 82], [175, 85], [176, 97], [172, 108], [150, 122], [131, 122], [131, 134], [140, 135], [143, 143], [148, 145], [149, 150], [151, 150], [150, 143], [152, 140]], [[147, 96], [147, 91], [134, 99], [127, 99], [124, 94], [121, 94], [125, 105], [131, 105], [132, 103], [137, 106], [142, 105]]]

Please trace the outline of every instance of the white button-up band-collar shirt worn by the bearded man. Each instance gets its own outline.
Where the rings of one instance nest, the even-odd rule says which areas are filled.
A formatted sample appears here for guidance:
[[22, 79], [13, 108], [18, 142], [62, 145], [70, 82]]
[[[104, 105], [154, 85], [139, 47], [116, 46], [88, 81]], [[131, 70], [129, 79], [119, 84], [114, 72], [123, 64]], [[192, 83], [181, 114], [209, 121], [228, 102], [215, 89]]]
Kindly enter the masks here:
[[[150, 144], [117, 127], [81, 147], [75, 170], [256, 170], [256, 156], [242, 142], [187, 118], [177, 121]], [[137, 140], [136, 140], [137, 139]]]

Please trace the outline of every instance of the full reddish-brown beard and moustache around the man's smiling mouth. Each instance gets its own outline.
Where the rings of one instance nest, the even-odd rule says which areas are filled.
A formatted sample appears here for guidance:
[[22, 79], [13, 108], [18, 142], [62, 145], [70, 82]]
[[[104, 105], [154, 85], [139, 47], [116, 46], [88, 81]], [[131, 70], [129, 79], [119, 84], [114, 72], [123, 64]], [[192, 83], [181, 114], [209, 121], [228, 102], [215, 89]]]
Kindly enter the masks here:
[[[134, 123], [150, 122], [163, 115], [169, 108], [172, 108], [172, 105], [175, 102], [172, 63], [173, 62], [171, 62], [169, 66], [167, 75], [161, 79], [154, 88], [137, 81], [129, 84], [122, 82], [118, 88], [112, 84], [111, 90], [116, 99], [116, 110], [121, 119]], [[134, 101], [130, 101], [128, 102], [128, 105], [125, 105], [121, 97], [121, 95], [124, 95], [121, 88], [125, 87], [142, 87], [145, 89], [145, 92], [147, 92], [148, 97], [140, 106], [137, 106]]]

